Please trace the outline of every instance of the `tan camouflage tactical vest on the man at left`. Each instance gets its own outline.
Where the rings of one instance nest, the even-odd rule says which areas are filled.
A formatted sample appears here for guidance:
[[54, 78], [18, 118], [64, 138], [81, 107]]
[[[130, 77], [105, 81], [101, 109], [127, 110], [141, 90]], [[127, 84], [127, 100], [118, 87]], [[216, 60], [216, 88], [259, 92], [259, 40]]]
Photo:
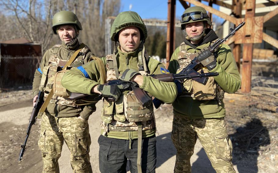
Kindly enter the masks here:
[[[69, 92], [61, 85], [62, 76], [65, 70], [62, 70], [62, 67], [67, 63], [68, 60], [62, 60], [58, 55], [59, 49], [62, 45], [54, 45], [52, 50], [52, 55], [49, 58], [48, 63], [43, 68], [42, 79], [39, 89], [43, 91], [44, 98], [48, 96], [48, 93], [54, 87], [55, 92], [53, 97], [50, 100], [50, 103], [59, 104], [64, 106], [78, 107], [75, 104], [75, 101], [69, 99]], [[83, 48], [79, 55], [75, 58], [74, 62], [71, 63], [71, 66], [68, 66], [67, 69], [73, 67], [79, 67], [83, 65], [84, 58], [86, 53], [89, 50], [87, 46]], [[61, 71], [62, 70], [62, 71]]]

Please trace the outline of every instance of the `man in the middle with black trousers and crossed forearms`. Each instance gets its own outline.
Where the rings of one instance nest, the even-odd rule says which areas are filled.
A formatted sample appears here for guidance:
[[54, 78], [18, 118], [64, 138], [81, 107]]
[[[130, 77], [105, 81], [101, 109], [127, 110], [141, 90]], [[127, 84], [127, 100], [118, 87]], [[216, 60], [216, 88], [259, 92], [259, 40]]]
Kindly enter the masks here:
[[152, 102], [143, 106], [134, 91], [121, 91], [120, 86], [100, 82], [104, 76], [101, 66], [105, 64], [107, 81], [120, 79], [137, 83], [150, 96], [172, 103], [177, 96], [175, 83], [148, 76], [161, 74], [165, 67], [148, 57], [144, 48], [146, 38], [147, 29], [141, 17], [136, 12], [121, 12], [111, 26], [114, 53], [101, 58], [103, 63], [93, 60], [72, 69], [62, 79], [62, 85], [71, 92], [99, 93], [104, 97], [98, 139], [102, 173], [126, 172], [127, 159], [132, 173], [155, 172], [156, 127]]

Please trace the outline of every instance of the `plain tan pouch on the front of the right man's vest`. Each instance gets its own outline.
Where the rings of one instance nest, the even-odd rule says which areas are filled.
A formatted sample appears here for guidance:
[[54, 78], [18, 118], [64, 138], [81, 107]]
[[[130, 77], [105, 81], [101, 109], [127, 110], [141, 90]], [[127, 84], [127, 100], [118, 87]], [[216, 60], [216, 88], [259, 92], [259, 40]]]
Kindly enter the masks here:
[[[203, 69], [205, 73], [207, 73], [207, 69]], [[200, 72], [198, 70], [197, 72]], [[192, 82], [193, 86], [193, 94], [194, 97], [197, 100], [212, 100], [216, 97], [216, 83], [214, 81], [213, 77], [208, 77], [208, 81], [206, 85], [203, 85], [202, 83], [196, 82], [193, 80]]]

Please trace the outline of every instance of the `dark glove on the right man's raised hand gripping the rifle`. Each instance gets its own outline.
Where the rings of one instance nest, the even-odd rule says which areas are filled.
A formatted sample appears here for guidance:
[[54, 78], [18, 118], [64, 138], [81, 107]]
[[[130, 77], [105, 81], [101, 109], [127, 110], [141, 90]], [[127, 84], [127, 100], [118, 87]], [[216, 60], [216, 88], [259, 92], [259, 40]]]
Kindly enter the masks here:
[[199, 52], [198, 60], [203, 66], [207, 67], [208, 70], [212, 70], [216, 67], [216, 60], [214, 55], [208, 50], [207, 47], [203, 48]]

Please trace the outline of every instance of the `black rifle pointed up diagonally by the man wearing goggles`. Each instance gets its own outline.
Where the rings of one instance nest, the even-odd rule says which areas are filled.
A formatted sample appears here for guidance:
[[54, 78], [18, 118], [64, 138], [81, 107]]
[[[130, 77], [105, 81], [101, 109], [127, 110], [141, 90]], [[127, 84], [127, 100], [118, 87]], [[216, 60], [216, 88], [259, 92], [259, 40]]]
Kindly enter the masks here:
[[[218, 49], [218, 47], [219, 47], [222, 43], [224, 43], [226, 40], [228, 40], [229, 37], [231, 37], [232, 35], [234, 35], [234, 34], [236, 33], [236, 31], [238, 31], [244, 24], [245, 24], [245, 22], [242, 22], [242, 23], [240, 23], [238, 26], [236, 26], [235, 29], [230, 28], [231, 33], [230, 33], [229, 35], [227, 35], [227, 36], [226, 36], [225, 38], [223, 38], [223, 39], [218, 39], [214, 44], [212, 44], [211, 46], [209, 46], [206, 50], [200, 52], [200, 54], [199, 54], [198, 56], [196, 56], [196, 57], [191, 61], [191, 63], [190, 63], [188, 66], [186, 66], [184, 69], [182, 69], [181, 72], [179, 72], [178, 74], [180, 74], [180, 75], [182, 75], [182, 74], [184, 74], [184, 75], [192, 75], [192, 76], [198, 75], [199, 73], [196, 72], [196, 70], [194, 69], [194, 67], [196, 67], [196, 65], [198, 65], [201, 61], [203, 61], [203, 60], [209, 58], [209, 57], [211, 56], [211, 54], [212, 54], [214, 51], [216, 51], [216, 50]], [[204, 74], [206, 74], [206, 73], [204, 73]], [[217, 75], [215, 75], [215, 76], [217, 76]], [[208, 80], [208, 76], [199, 77], [199, 78], [192, 78], [192, 79], [195, 80], [195, 81], [197, 81], [197, 82], [199, 82], [199, 83], [202, 83], [203, 85], [206, 85], [207, 80]], [[175, 83], [178, 83], [178, 82], [179, 82], [178, 80], [181, 81], [181, 79], [177, 79], [177, 80], [175, 81]], [[159, 108], [159, 106], [160, 106], [161, 104], [163, 104], [163, 102], [160, 101], [160, 100], [157, 99], [157, 98], [154, 98], [154, 99], [153, 99], [153, 104], [154, 104], [155, 108], [157, 109], [157, 108]]]

